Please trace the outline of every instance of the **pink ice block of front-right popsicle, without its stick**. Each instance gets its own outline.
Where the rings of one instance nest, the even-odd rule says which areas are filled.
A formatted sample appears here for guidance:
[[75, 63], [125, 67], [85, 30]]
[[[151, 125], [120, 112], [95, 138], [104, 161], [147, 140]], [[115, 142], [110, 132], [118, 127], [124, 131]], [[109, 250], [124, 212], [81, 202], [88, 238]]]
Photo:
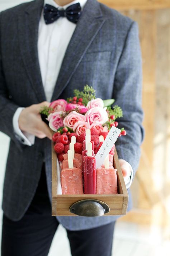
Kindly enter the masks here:
[[96, 194], [117, 194], [117, 170], [98, 168], [96, 170]]

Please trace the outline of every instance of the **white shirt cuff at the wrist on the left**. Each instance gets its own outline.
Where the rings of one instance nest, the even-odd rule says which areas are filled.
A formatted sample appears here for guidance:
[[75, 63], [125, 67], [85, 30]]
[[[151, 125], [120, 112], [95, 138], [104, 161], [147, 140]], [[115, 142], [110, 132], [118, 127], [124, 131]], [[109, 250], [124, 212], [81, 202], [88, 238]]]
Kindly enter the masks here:
[[15, 133], [15, 137], [20, 141], [20, 143], [24, 145], [32, 146], [35, 142], [35, 136], [25, 131], [22, 132], [19, 129], [18, 119], [23, 109], [24, 108], [17, 108], [13, 116], [14, 133]]

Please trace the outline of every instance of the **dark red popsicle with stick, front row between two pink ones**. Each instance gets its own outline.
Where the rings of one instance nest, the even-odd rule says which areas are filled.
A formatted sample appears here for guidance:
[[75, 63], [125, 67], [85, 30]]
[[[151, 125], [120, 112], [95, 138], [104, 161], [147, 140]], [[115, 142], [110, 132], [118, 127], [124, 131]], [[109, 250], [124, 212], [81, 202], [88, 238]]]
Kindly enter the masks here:
[[84, 193], [96, 193], [96, 159], [92, 156], [92, 144], [88, 143], [88, 155], [83, 157], [84, 165]]

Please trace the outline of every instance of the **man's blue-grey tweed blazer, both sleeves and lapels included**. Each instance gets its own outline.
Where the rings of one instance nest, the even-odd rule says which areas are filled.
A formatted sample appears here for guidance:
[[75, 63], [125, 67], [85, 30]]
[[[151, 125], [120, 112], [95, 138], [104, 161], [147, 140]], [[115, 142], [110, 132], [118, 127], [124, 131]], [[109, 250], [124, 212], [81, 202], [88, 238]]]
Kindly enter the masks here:
[[[12, 119], [18, 107], [46, 100], [39, 68], [37, 39], [43, 0], [18, 5], [0, 13], [0, 130], [10, 137], [3, 210], [17, 221], [36, 192], [43, 161], [51, 198], [51, 142], [36, 138], [31, 147], [14, 134]], [[141, 52], [136, 22], [117, 11], [88, 0], [66, 50], [51, 100], [67, 98], [75, 88], [93, 86], [96, 96], [114, 98], [124, 116], [120, 126], [127, 136], [117, 141], [119, 158], [136, 172], [143, 139], [141, 109]], [[129, 194], [128, 210], [132, 207]], [[69, 230], [94, 228], [119, 216], [57, 217]]]

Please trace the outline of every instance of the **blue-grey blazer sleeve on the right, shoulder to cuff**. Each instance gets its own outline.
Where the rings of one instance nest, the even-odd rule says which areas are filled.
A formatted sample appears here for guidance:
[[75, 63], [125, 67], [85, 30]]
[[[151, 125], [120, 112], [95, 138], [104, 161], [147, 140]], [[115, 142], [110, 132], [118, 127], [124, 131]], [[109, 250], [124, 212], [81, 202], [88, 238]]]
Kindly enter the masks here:
[[118, 127], [124, 127], [127, 131], [127, 135], [119, 137], [115, 144], [118, 157], [129, 162], [135, 174], [144, 136], [141, 107], [142, 58], [136, 22], [131, 23], [124, 42], [115, 74], [113, 98], [114, 105], [119, 105], [123, 110], [123, 118], [118, 119]]

